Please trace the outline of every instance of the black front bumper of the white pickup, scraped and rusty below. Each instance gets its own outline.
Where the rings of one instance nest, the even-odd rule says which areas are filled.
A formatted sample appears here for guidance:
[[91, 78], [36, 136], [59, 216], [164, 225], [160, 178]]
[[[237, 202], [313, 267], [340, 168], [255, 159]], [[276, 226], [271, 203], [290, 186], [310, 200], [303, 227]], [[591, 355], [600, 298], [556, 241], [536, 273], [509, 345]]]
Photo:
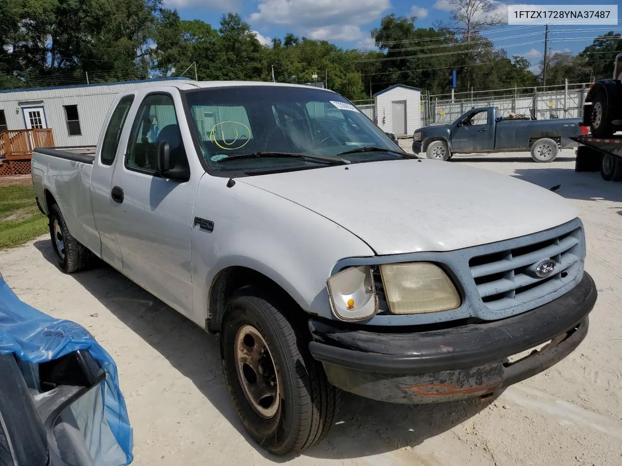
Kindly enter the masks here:
[[[569, 355], [587, 334], [596, 295], [585, 273], [555, 301], [500, 321], [380, 332], [310, 320], [309, 349], [330, 383], [366, 398], [436, 403], [491, 395]], [[549, 340], [509, 362], [508, 357]]]

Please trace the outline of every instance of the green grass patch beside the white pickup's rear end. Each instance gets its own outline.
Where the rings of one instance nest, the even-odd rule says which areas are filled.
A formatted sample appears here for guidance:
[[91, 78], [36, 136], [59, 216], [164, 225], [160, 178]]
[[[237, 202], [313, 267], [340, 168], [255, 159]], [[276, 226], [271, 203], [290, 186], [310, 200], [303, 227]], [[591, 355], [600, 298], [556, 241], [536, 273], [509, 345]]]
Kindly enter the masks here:
[[0, 186], [0, 249], [24, 244], [48, 231], [32, 186]]

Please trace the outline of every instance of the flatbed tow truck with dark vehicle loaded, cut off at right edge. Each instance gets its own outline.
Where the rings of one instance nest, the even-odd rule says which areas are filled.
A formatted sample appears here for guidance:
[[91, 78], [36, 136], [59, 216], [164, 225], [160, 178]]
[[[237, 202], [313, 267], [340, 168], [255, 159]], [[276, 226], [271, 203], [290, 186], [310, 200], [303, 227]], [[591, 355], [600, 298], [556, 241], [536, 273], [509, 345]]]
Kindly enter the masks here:
[[583, 105], [582, 126], [592, 134], [571, 139], [580, 142], [575, 171], [598, 171], [605, 181], [622, 181], [622, 53], [618, 53], [613, 78], [596, 81]]

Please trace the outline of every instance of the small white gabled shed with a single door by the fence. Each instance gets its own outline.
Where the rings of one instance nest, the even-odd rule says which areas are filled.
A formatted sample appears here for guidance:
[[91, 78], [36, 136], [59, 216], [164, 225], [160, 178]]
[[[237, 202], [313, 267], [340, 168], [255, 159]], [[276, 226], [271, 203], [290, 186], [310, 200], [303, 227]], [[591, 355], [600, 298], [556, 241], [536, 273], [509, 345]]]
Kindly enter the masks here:
[[396, 84], [374, 94], [378, 126], [396, 137], [421, 127], [421, 89]]

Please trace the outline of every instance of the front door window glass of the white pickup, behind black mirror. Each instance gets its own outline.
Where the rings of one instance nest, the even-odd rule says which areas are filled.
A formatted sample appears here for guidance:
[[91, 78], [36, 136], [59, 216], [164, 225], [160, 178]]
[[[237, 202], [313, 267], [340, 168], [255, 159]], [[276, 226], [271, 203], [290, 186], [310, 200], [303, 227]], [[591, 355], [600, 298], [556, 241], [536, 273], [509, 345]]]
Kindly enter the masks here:
[[157, 171], [157, 147], [169, 143], [173, 160], [185, 158], [182, 134], [177, 124], [175, 104], [168, 94], [151, 94], [141, 103], [129, 136], [126, 167]]

